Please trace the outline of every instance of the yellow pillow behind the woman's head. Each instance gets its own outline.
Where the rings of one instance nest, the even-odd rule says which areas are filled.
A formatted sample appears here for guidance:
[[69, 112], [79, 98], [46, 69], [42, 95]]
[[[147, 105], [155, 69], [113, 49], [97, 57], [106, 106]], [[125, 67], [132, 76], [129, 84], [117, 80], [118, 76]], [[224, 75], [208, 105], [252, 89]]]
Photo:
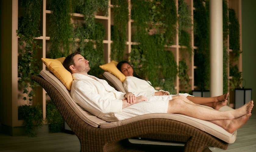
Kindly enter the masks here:
[[112, 60], [110, 63], [100, 65], [100, 68], [114, 74], [121, 82], [123, 82], [125, 80], [125, 75], [118, 70], [116, 67], [117, 64], [118, 62]]

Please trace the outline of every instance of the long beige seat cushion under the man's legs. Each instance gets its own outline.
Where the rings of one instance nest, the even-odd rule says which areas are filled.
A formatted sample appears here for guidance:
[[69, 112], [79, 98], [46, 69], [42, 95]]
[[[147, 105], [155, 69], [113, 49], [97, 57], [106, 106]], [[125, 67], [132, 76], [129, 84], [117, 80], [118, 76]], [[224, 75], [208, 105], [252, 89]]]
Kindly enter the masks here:
[[[209, 107], [208, 107], [209, 108]], [[223, 106], [221, 108], [222, 111], [226, 110], [233, 110], [229, 106]], [[122, 126], [128, 123], [133, 123], [139, 120], [143, 119], [151, 119], [151, 118], [166, 118], [166, 119], [173, 119], [177, 120], [183, 123], [187, 123], [191, 126], [194, 126], [200, 130], [203, 130], [212, 136], [215, 136], [227, 143], [234, 143], [236, 140], [236, 131], [234, 133], [228, 133], [226, 130], [224, 130], [222, 127], [215, 125], [214, 123], [211, 123], [209, 121], [204, 121], [201, 119], [196, 119], [193, 117], [181, 115], [181, 114], [169, 114], [169, 113], [152, 113], [152, 114], [146, 114], [141, 116], [136, 116], [130, 119], [125, 119], [122, 121], [112, 122], [112, 123], [102, 123], [100, 125], [100, 128], [112, 128], [116, 126]]]

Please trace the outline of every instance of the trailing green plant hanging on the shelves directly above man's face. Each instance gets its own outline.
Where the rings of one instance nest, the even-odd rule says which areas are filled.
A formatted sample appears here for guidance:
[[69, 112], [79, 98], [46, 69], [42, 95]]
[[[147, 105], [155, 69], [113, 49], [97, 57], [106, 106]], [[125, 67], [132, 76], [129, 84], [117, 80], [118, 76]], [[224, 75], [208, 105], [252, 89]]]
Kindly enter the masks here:
[[96, 21], [94, 15], [98, 10], [108, 15], [108, 0], [79, 0], [77, 10], [84, 15], [84, 22], [74, 25], [74, 38], [79, 39], [76, 51], [90, 61], [89, 74], [98, 76], [102, 74], [99, 65], [104, 64], [105, 29], [101, 22]]

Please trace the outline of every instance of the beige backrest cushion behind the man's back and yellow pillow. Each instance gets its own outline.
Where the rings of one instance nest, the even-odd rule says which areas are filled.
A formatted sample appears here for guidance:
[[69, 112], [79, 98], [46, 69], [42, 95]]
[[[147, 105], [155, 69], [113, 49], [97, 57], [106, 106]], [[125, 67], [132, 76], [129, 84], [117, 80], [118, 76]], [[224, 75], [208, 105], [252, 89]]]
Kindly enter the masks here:
[[92, 115], [91, 113], [85, 111], [82, 107], [80, 107], [70, 96], [70, 92], [68, 89], [56, 78], [50, 71], [42, 70], [40, 75], [48, 82], [50, 82], [66, 99], [71, 108], [83, 119], [86, 123], [91, 126], [98, 127], [99, 124], [105, 123], [106, 121], [99, 119], [98, 117]]

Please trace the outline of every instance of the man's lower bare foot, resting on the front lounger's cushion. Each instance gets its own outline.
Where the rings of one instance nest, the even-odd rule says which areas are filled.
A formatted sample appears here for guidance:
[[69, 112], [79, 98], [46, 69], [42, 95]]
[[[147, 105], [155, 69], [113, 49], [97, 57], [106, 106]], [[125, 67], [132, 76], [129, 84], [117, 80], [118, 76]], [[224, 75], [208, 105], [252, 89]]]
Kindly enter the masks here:
[[226, 126], [223, 127], [227, 132], [233, 133], [237, 129], [241, 128], [244, 126], [244, 124], [248, 121], [249, 117], [251, 116], [251, 113], [248, 113], [242, 117], [236, 118], [236, 119], [231, 119], [227, 120]]

